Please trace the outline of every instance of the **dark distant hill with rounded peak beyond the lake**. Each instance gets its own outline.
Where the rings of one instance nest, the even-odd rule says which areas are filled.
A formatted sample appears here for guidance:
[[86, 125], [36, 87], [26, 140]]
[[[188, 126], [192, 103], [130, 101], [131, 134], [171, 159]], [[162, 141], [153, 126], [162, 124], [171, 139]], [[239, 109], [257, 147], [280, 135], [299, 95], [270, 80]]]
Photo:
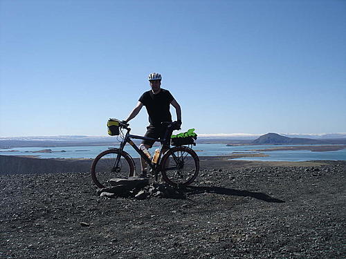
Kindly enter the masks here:
[[252, 144], [321, 144], [318, 140], [302, 137], [284, 137], [277, 133], [267, 133], [257, 138]]

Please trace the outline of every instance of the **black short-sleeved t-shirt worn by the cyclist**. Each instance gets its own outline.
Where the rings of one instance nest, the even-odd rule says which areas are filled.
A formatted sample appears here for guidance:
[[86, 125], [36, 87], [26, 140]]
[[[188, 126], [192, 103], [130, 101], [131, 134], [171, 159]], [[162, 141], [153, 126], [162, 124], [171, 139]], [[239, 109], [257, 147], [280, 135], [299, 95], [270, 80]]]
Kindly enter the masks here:
[[139, 98], [149, 115], [149, 122], [154, 126], [161, 125], [161, 122], [172, 122], [170, 113], [170, 103], [174, 100], [169, 90], [161, 88], [160, 93], [154, 95], [152, 90], [149, 90]]

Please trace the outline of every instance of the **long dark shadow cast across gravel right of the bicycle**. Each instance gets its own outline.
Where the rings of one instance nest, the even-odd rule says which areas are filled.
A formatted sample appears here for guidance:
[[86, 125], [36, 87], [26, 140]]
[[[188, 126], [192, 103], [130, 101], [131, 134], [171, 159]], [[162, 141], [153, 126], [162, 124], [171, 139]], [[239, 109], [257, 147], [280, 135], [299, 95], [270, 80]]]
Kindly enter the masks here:
[[277, 202], [283, 203], [284, 200], [273, 198], [266, 193], [258, 193], [255, 191], [242, 191], [235, 189], [228, 189], [219, 186], [188, 186], [184, 189], [183, 193], [185, 196], [197, 195], [201, 193], [216, 193], [228, 196], [241, 196], [241, 197], [251, 197], [257, 200], [263, 200], [264, 202]]

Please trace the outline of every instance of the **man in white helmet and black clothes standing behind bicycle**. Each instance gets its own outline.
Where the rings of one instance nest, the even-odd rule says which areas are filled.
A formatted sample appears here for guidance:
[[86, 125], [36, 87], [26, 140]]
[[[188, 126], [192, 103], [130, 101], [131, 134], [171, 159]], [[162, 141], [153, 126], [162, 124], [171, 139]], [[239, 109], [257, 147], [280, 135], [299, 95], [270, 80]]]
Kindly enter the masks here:
[[[145, 137], [151, 137], [154, 139], [162, 140], [167, 126], [163, 126], [161, 122], [172, 122], [172, 115], [170, 113], [170, 104], [176, 110], [176, 128], [181, 126], [181, 108], [171, 95], [169, 90], [161, 88], [161, 75], [158, 73], [151, 73], [149, 75], [149, 84], [152, 90], [143, 93], [140, 96], [138, 103], [133, 111], [129, 114], [129, 117], [125, 119], [125, 123], [136, 117], [140, 109], [145, 106], [149, 115], [149, 126], [147, 126], [147, 133]], [[168, 136], [170, 137], [170, 136]], [[154, 144], [152, 140], [143, 140], [140, 144], [140, 148], [149, 149]], [[167, 150], [167, 146], [163, 146], [163, 153]], [[140, 176], [147, 177], [147, 163], [140, 157], [140, 165], [142, 168], [142, 174]]]

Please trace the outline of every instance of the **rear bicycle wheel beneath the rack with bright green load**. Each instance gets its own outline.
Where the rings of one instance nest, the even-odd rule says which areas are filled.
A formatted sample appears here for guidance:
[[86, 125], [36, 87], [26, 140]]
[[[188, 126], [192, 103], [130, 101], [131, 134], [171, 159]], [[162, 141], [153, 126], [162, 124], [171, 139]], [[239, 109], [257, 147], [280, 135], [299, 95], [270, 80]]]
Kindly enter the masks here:
[[199, 172], [199, 157], [187, 146], [170, 148], [161, 160], [162, 178], [172, 186], [188, 186]]

